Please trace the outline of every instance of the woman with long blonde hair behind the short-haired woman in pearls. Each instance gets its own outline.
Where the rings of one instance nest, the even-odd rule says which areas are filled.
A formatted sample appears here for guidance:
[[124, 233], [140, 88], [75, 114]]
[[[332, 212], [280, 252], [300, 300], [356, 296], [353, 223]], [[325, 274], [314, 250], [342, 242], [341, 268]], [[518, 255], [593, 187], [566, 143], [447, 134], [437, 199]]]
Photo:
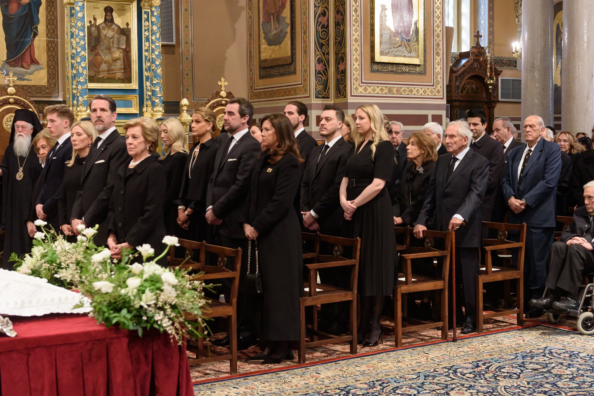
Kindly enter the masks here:
[[165, 201], [163, 202], [165, 231], [167, 235], [187, 239], [187, 232], [184, 232], [184, 229], [178, 225], [178, 205], [175, 204], [175, 201], [179, 197], [182, 185], [181, 175], [188, 159], [188, 136], [186, 136], [181, 122], [173, 117], [163, 120], [159, 130], [161, 141], [165, 146], [165, 154], [159, 158], [160, 164], [165, 168], [167, 180]]

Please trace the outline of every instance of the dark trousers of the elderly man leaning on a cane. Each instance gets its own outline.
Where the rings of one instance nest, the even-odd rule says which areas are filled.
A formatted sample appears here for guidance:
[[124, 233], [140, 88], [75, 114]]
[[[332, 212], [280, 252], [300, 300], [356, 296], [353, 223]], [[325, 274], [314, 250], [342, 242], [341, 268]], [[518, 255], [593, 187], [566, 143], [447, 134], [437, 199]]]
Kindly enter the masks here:
[[[464, 290], [464, 306], [466, 311], [466, 318], [470, 318], [472, 324], [476, 324], [476, 276], [480, 273], [479, 270], [479, 248], [456, 247], [456, 305], [462, 306], [462, 295], [460, 293], [460, 285]], [[451, 276], [451, 274], [450, 274]], [[451, 285], [451, 281], [448, 282]], [[448, 295], [449, 317], [451, 321], [452, 299], [451, 286]], [[460, 321], [462, 309], [456, 310], [456, 321]]]

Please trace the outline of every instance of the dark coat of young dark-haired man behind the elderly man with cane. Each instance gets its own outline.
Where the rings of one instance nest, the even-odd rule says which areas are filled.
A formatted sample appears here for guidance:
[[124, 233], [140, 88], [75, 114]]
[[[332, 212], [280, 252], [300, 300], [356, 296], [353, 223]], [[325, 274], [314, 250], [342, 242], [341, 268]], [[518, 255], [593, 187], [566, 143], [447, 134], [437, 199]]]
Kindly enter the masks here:
[[485, 199], [481, 205], [483, 221], [491, 221], [491, 213], [495, 206], [495, 199], [501, 191], [501, 174], [503, 174], [503, 148], [501, 143], [484, 133], [478, 142], [470, 144], [476, 154], [480, 154], [489, 161], [489, 180], [486, 186]]

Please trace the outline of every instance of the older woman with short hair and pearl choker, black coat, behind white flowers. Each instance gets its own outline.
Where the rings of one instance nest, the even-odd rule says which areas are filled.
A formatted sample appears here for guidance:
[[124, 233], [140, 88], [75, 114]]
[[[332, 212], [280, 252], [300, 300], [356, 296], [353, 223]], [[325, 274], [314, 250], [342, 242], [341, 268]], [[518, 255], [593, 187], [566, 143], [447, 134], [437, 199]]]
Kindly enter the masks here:
[[[154, 249], [155, 256], [165, 250], [165, 170], [151, 155], [157, 148], [159, 126], [147, 117], [138, 117], [124, 124], [126, 148], [132, 161], [116, 173], [109, 204], [108, 246], [113, 258], [122, 256], [122, 249], [134, 250], [143, 244]], [[135, 257], [134, 261], [142, 261]], [[163, 257], [158, 264], [166, 266]]]

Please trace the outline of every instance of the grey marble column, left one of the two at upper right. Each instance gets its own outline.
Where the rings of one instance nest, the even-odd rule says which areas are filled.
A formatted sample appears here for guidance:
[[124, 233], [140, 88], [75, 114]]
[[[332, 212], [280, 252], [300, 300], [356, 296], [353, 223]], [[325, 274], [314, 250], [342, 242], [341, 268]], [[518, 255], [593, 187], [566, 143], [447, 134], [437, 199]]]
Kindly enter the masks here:
[[553, 123], [553, 40], [553, 0], [523, 0], [522, 123], [533, 114]]

